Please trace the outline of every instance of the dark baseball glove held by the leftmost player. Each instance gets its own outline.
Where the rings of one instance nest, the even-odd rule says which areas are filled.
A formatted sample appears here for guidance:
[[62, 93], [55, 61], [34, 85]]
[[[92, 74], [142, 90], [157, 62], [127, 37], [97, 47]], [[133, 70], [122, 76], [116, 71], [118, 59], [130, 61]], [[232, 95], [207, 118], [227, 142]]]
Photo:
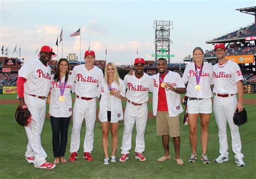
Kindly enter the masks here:
[[29, 126], [31, 123], [31, 113], [26, 105], [19, 105], [15, 111], [15, 119], [19, 125]]

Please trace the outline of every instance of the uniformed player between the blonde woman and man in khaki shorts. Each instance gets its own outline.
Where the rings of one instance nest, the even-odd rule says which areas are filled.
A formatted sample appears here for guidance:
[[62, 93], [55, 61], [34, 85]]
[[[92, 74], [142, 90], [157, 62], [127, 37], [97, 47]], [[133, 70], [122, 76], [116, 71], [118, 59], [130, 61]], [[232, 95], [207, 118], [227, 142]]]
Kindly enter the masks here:
[[120, 162], [125, 162], [129, 159], [134, 123], [136, 123], [137, 132], [135, 158], [140, 161], [146, 160], [146, 157], [143, 155], [145, 150], [144, 134], [147, 123], [147, 101], [149, 100], [149, 91], [152, 90], [153, 80], [144, 73], [144, 65], [145, 60], [143, 58], [135, 59], [134, 75], [126, 75], [124, 77], [124, 84], [127, 88], [127, 103], [124, 113], [124, 134]]

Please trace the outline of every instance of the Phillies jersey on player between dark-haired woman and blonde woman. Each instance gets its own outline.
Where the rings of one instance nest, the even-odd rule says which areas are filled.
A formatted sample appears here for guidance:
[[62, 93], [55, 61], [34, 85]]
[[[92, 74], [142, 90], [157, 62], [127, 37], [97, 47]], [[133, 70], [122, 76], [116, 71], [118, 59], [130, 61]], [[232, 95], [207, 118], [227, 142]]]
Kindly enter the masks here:
[[101, 69], [93, 66], [93, 68], [88, 71], [85, 65], [78, 65], [73, 68], [72, 76], [76, 82], [76, 95], [91, 98], [97, 97], [98, 84], [103, 80], [103, 72]]

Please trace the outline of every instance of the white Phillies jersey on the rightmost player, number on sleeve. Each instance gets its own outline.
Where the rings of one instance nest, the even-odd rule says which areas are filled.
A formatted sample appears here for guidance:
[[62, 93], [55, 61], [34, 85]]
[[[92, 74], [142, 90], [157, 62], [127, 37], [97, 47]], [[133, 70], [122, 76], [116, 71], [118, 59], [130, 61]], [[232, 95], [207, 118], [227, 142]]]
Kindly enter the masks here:
[[213, 92], [217, 94], [237, 94], [236, 83], [243, 79], [240, 67], [231, 60], [213, 66]]

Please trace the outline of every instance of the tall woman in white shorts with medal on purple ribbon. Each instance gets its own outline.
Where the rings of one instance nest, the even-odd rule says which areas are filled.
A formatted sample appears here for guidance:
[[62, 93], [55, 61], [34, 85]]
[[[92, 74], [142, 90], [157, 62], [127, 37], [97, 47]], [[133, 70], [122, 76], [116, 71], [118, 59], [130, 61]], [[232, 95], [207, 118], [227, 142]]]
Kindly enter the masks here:
[[188, 124], [190, 125], [190, 143], [192, 154], [189, 162], [195, 162], [197, 159], [197, 119], [201, 119], [201, 161], [210, 163], [206, 155], [208, 141], [208, 123], [212, 113], [212, 77], [213, 66], [204, 62], [204, 52], [200, 47], [193, 50], [193, 61], [187, 64], [183, 82], [187, 83], [187, 113]]

